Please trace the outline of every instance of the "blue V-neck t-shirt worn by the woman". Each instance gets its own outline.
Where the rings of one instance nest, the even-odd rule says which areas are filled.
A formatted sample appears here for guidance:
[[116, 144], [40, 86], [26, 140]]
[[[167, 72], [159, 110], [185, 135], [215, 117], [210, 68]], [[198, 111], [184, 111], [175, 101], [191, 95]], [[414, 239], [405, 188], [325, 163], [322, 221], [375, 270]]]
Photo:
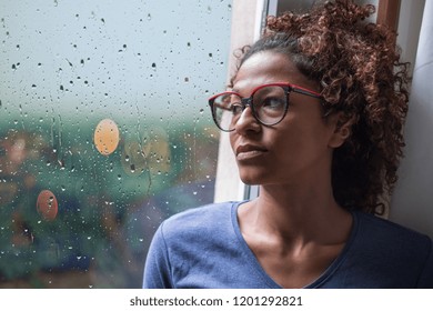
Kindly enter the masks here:
[[[242, 237], [240, 202], [188, 210], [153, 237], [143, 288], [280, 289]], [[433, 288], [432, 240], [399, 224], [353, 211], [340, 255], [305, 288]]]

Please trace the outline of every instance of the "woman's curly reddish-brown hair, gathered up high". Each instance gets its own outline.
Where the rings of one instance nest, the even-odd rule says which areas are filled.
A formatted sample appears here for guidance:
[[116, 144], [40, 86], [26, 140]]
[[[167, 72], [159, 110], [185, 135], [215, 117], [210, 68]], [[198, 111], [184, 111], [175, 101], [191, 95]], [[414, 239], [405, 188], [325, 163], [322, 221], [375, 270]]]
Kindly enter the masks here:
[[350, 138], [333, 153], [335, 200], [345, 209], [382, 214], [403, 157], [410, 78], [396, 33], [365, 21], [374, 11], [371, 4], [335, 0], [305, 14], [268, 17], [262, 38], [242, 49], [238, 68], [270, 50], [286, 54], [320, 83], [324, 116], [343, 112], [343, 122], [353, 120]]

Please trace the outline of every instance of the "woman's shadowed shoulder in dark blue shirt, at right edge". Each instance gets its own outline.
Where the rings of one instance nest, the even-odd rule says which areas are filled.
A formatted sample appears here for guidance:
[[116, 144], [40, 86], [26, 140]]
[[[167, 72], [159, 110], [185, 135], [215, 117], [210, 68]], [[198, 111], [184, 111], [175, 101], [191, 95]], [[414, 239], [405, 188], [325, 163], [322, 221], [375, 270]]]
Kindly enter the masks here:
[[432, 288], [433, 243], [415, 230], [360, 211], [328, 288]]

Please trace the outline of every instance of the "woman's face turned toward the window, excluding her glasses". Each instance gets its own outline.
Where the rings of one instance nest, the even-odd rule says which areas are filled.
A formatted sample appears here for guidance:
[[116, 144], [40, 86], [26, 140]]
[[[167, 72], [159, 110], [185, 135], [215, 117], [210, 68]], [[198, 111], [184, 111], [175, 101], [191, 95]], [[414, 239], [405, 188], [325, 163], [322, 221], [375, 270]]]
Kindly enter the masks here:
[[[319, 91], [281, 53], [258, 52], [245, 60], [233, 81], [233, 91], [243, 98], [254, 88], [290, 82]], [[331, 118], [332, 119], [332, 118]], [[331, 175], [335, 147], [335, 122], [323, 118], [320, 99], [290, 93], [289, 111], [275, 126], [260, 124], [246, 108], [230, 133], [240, 177], [246, 184], [295, 184]], [[328, 178], [325, 175], [325, 178]]]

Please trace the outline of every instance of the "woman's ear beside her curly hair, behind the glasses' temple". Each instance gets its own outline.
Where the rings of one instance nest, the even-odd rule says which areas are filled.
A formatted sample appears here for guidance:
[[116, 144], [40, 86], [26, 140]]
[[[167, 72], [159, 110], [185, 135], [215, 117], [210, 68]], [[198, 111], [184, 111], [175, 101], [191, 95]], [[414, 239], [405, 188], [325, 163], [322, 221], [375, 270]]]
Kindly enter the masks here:
[[346, 114], [343, 111], [336, 112], [329, 117], [329, 122], [333, 127], [333, 133], [328, 146], [330, 148], [339, 148], [350, 138], [352, 126], [355, 122], [355, 117]]

